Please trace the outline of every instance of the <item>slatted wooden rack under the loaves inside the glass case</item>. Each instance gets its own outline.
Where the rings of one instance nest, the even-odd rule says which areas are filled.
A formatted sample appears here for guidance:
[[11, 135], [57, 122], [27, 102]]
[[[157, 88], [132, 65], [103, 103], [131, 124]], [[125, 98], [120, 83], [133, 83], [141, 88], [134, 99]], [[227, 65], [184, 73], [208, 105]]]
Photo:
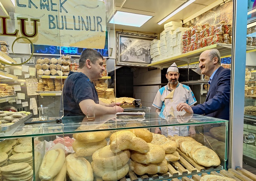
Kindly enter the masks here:
[[197, 163], [192, 158], [187, 157], [186, 154], [178, 150], [180, 154], [180, 160], [168, 162], [168, 172], [167, 173], [157, 173], [154, 175], [136, 175], [133, 171], [129, 173], [120, 181], [148, 181], [148, 180], [167, 180], [174, 178], [180, 178], [185, 176], [191, 176], [194, 174], [202, 174], [209, 172], [217, 172], [222, 169], [222, 166], [215, 167], [203, 167]]

